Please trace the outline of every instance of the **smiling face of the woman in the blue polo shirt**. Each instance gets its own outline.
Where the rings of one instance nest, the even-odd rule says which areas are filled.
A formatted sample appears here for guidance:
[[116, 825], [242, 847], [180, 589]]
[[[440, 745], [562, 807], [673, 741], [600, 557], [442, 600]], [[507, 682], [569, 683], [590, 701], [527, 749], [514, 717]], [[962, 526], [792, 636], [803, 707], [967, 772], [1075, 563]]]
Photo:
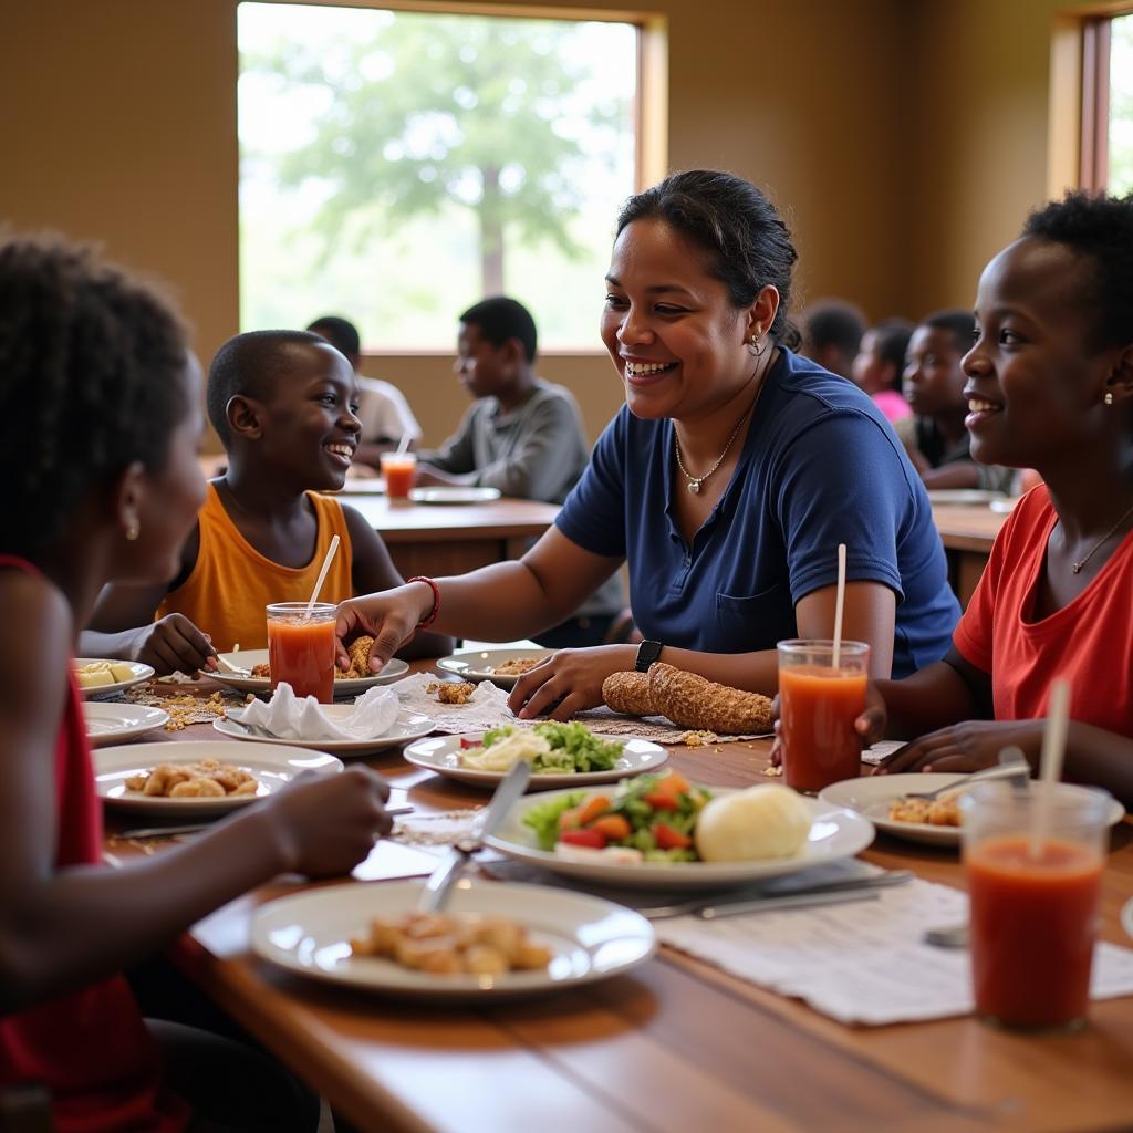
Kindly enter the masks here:
[[752, 309], [732, 304], [707, 256], [658, 219], [633, 221], [614, 242], [602, 341], [637, 417], [695, 420], [752, 374]]

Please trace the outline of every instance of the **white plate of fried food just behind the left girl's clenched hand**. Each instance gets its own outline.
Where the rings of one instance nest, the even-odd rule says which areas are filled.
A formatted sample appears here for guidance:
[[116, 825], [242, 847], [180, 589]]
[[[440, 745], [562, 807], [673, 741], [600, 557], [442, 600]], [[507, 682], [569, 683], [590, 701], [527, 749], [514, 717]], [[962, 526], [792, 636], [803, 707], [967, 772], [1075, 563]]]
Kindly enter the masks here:
[[338, 775], [342, 760], [304, 748], [180, 740], [99, 748], [94, 789], [108, 807], [152, 815], [223, 813], [287, 786], [303, 772]]

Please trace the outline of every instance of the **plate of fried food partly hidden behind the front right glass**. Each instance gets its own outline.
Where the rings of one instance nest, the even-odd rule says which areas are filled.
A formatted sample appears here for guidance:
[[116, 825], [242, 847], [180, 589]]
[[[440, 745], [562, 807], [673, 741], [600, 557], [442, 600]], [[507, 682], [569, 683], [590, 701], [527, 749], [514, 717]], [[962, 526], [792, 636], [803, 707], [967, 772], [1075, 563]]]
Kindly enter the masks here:
[[[906, 772], [843, 780], [820, 791], [818, 798], [836, 807], [849, 807], [868, 818], [879, 830], [908, 842], [934, 846], [959, 846], [961, 811], [957, 799], [966, 790], [966, 774], [956, 772]], [[940, 787], [932, 801], [912, 798]], [[1125, 810], [1111, 802], [1109, 825], [1119, 823]]]

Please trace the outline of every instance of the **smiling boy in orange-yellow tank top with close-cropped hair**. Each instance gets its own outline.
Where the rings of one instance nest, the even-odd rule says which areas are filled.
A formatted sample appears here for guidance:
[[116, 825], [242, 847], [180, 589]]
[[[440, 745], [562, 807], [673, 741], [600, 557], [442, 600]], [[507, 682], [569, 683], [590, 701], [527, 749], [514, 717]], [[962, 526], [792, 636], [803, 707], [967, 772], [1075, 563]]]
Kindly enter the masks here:
[[[208, 374], [208, 418], [228, 470], [207, 485], [177, 576], [100, 595], [83, 648], [159, 673], [214, 667], [214, 651], [264, 648], [264, 607], [310, 597], [331, 537], [341, 545], [320, 600], [342, 602], [401, 576], [369, 523], [321, 492], [341, 488], [358, 444], [358, 390], [347, 359], [306, 331], [229, 339]], [[154, 621], [156, 613], [157, 621]], [[421, 634], [411, 656], [448, 653]]]

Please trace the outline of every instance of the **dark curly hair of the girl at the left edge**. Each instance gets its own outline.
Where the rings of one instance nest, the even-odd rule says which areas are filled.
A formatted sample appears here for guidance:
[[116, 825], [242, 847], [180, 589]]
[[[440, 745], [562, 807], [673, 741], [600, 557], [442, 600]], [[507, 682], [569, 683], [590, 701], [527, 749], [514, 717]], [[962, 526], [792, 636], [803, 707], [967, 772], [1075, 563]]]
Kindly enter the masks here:
[[0, 235], [0, 551], [50, 546], [134, 461], [160, 471], [190, 408], [185, 339], [155, 290], [90, 248]]

